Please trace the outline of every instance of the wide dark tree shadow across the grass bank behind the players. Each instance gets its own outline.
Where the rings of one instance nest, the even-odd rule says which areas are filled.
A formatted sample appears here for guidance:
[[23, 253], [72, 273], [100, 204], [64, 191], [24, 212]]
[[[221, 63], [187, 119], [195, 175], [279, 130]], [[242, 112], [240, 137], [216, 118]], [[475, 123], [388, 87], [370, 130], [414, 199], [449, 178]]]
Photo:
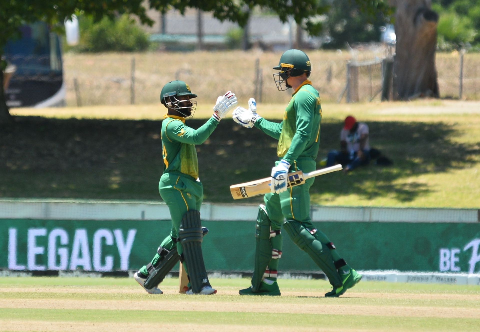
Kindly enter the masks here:
[[[198, 128], [204, 120], [187, 122]], [[315, 181], [312, 193], [356, 194], [373, 199], [395, 193], [399, 202], [429, 192], [427, 184], [397, 179], [472, 165], [479, 144], [453, 142], [444, 123], [372, 122], [371, 145], [394, 161], [340, 172]], [[318, 160], [339, 145], [341, 122], [324, 122]], [[162, 173], [161, 121], [16, 117], [0, 129], [0, 196], [157, 200]], [[233, 202], [228, 187], [267, 177], [276, 141], [257, 129], [224, 119], [197, 146], [205, 201]], [[258, 202], [252, 198], [243, 202]]]

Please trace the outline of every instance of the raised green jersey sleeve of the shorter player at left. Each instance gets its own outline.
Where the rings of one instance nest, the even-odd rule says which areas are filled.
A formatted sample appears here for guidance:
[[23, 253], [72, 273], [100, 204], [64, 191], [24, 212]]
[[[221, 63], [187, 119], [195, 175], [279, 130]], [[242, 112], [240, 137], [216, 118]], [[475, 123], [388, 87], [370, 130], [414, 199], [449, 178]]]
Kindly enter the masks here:
[[170, 141], [177, 141], [186, 144], [202, 144], [212, 134], [218, 125], [216, 119], [210, 118], [200, 128], [193, 129], [180, 120], [171, 121], [165, 133]]

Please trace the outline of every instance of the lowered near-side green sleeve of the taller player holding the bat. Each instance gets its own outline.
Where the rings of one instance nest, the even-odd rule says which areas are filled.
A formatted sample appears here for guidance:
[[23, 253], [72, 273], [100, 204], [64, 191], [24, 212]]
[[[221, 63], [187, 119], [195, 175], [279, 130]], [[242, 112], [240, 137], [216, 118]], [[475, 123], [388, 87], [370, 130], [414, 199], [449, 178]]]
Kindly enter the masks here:
[[287, 154], [283, 157], [290, 164], [297, 160], [312, 137], [313, 112], [317, 107], [317, 98], [308, 91], [299, 91], [293, 101], [293, 107], [297, 128]]

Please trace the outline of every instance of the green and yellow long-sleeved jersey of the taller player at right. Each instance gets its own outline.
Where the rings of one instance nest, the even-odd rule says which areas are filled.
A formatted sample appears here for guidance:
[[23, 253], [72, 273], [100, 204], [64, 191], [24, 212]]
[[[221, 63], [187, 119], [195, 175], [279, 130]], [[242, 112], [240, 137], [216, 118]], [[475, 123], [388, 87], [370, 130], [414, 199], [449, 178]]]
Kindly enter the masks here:
[[278, 157], [293, 164], [299, 157], [317, 157], [321, 121], [320, 96], [306, 80], [293, 93], [281, 123], [258, 119], [255, 127], [277, 139]]

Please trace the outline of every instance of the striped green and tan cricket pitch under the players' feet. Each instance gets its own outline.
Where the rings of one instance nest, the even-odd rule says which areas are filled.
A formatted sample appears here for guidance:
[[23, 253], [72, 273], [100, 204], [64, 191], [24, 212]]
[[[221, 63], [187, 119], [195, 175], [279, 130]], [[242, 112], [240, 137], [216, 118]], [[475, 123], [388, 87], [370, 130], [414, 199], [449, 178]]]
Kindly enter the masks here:
[[360, 282], [325, 298], [321, 280], [279, 280], [282, 296], [239, 296], [249, 279], [211, 279], [214, 296], [147, 294], [133, 278], [0, 278], [0, 331], [478, 331], [480, 286]]

